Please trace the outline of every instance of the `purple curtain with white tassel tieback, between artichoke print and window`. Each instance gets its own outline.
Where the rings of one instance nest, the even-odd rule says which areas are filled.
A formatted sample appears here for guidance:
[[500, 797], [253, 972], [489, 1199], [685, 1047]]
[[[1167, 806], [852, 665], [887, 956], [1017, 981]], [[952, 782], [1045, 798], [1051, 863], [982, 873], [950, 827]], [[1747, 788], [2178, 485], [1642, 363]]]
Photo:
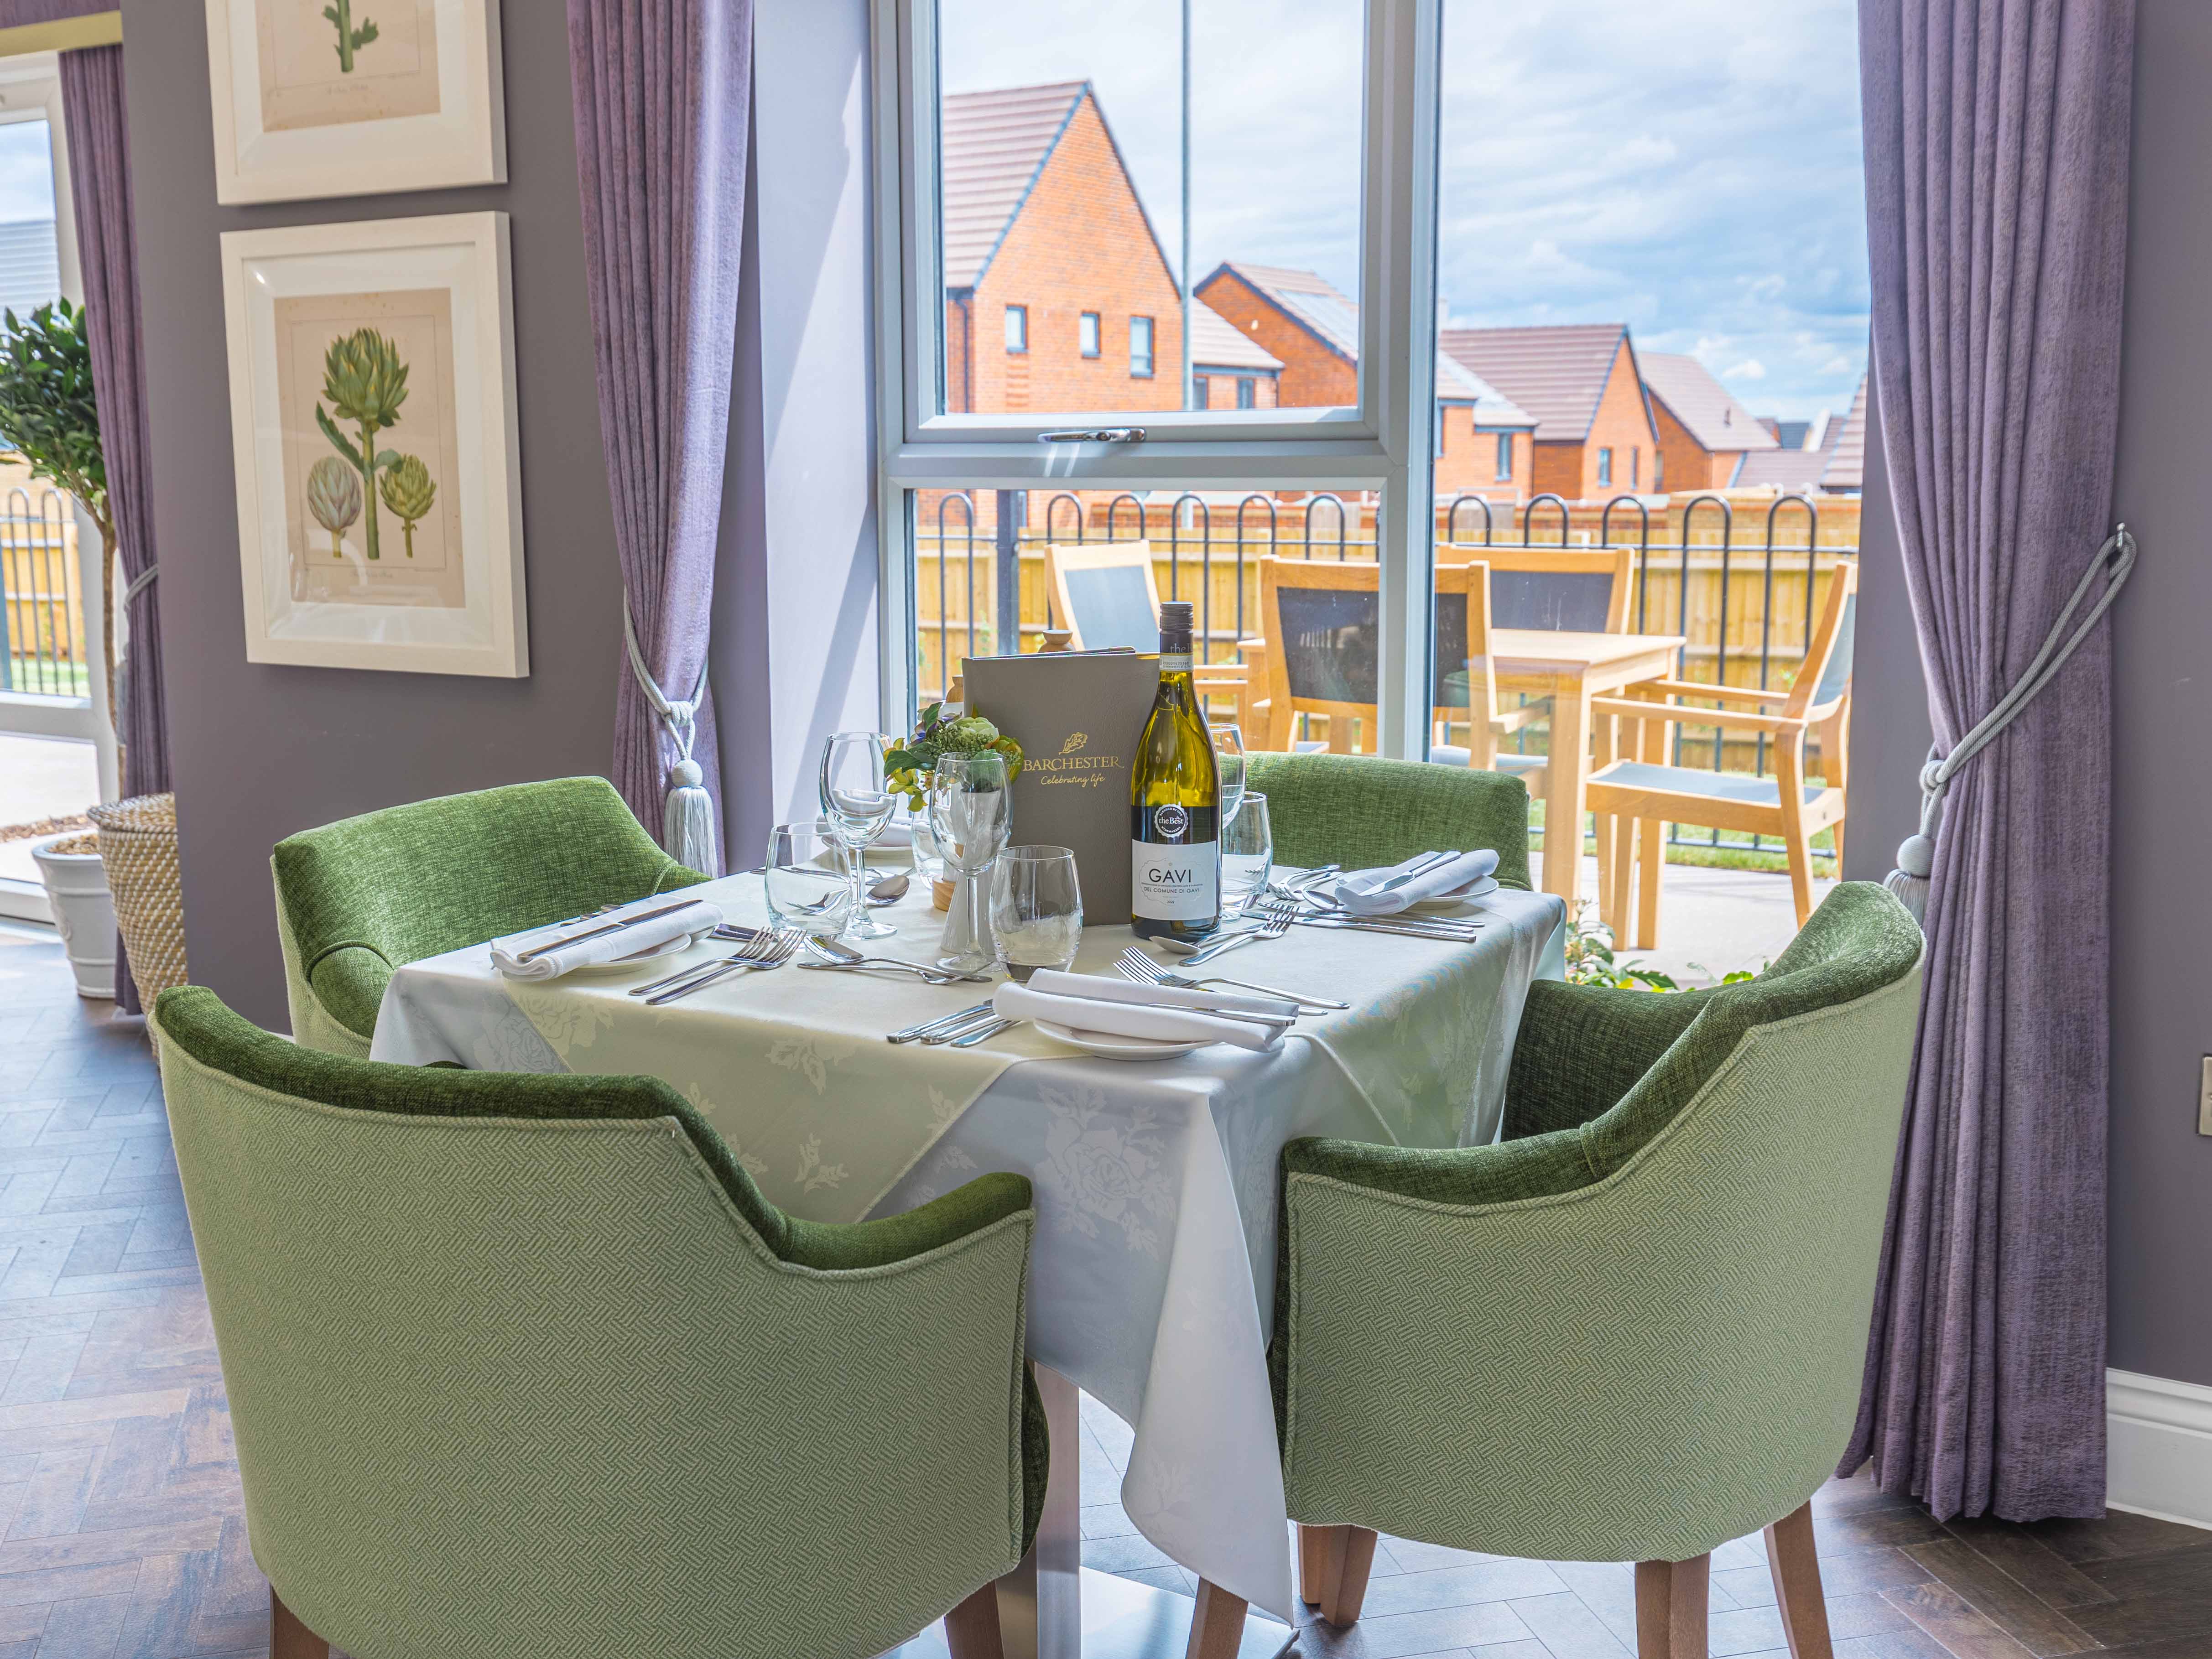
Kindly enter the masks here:
[[[677, 701], [699, 686], [714, 597], [752, 0], [568, 0], [568, 60], [615, 553], [646, 670]], [[666, 843], [677, 750], [628, 659], [617, 672], [615, 787]], [[692, 757], [719, 803], [710, 695]]]

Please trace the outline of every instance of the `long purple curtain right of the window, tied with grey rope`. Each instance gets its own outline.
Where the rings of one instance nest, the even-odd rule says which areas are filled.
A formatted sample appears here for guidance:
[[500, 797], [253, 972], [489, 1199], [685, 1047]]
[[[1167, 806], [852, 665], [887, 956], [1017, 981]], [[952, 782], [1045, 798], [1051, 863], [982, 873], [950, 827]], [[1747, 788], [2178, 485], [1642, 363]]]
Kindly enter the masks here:
[[[1874, 361], [1942, 752], [2112, 524], [2135, 0], [1860, 0]], [[2104, 1513], [2110, 637], [1944, 799], [1858, 1431], [1940, 1517]]]

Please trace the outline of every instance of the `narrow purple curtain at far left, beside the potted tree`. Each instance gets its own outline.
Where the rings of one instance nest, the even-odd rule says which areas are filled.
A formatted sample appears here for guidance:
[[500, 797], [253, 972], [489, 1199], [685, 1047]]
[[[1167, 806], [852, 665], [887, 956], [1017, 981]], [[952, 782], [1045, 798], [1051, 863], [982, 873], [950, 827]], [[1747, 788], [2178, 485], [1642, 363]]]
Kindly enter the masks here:
[[[128, 666], [119, 677], [122, 708], [115, 712], [124, 745], [124, 794], [159, 794], [168, 790], [168, 706], [161, 692], [161, 584], [153, 577], [153, 462], [146, 451], [122, 46], [62, 53], [62, 122], [69, 128], [69, 195], [84, 272], [100, 449], [108, 467], [108, 513], [115, 520], [119, 577], [113, 597], [126, 611], [131, 628]], [[137, 984], [119, 942], [115, 1002], [124, 1013], [139, 1013]]]

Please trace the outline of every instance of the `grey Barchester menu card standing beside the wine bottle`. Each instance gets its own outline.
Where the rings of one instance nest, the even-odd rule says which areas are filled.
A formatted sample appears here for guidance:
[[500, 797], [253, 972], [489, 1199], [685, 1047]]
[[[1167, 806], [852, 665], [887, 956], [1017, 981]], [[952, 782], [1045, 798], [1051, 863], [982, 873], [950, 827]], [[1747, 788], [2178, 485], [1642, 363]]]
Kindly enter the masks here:
[[967, 710], [1022, 745], [1013, 841], [1071, 847], [1084, 922], [1128, 922], [1128, 779], [1159, 695], [1159, 657], [1051, 650], [969, 657]]

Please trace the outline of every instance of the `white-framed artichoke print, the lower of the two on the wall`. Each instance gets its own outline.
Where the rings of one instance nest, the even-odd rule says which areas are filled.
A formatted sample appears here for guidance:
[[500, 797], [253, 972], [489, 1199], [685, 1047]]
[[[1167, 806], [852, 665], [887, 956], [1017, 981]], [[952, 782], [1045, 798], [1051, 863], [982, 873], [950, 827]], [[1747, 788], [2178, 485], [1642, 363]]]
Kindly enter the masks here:
[[529, 672], [504, 212], [223, 237], [250, 661]]

